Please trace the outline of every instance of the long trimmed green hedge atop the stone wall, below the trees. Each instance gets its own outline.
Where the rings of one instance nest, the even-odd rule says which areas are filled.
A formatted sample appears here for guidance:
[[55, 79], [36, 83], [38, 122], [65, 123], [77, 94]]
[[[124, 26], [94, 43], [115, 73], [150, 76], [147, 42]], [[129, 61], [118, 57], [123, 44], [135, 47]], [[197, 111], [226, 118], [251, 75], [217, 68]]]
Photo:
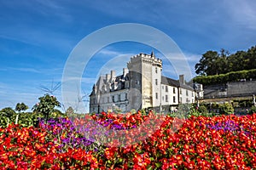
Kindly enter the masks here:
[[193, 82], [198, 82], [203, 85], [225, 84], [227, 82], [238, 82], [241, 79], [256, 78], [256, 69], [249, 71], [232, 71], [227, 74], [214, 76], [198, 76], [193, 78]]

